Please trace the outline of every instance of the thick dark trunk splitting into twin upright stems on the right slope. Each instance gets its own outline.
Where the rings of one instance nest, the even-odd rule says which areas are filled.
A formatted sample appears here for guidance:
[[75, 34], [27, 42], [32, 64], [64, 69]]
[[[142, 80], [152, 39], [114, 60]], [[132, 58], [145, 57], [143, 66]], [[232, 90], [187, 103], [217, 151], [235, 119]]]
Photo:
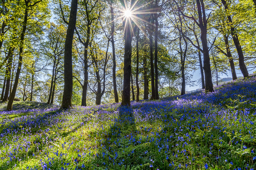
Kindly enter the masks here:
[[[201, 30], [201, 41], [202, 41], [203, 54], [204, 54], [205, 92], [213, 92], [211, 63], [210, 63], [210, 56], [209, 56], [209, 48], [207, 45], [207, 20], [206, 20], [204, 2], [203, 0], [196, 0], [196, 4], [197, 4], [199, 27]], [[201, 9], [201, 5], [202, 5], [202, 9]], [[202, 11], [204, 14], [203, 16], [202, 16]]]

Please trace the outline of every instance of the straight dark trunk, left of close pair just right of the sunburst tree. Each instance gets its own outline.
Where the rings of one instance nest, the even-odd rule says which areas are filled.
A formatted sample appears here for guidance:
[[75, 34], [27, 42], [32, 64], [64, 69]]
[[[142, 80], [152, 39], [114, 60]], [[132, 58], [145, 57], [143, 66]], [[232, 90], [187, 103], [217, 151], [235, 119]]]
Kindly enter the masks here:
[[155, 100], [156, 92], [155, 92], [154, 58], [153, 58], [153, 38], [152, 38], [151, 31], [149, 31], [149, 51], [150, 51], [150, 74], [151, 74], [151, 98], [150, 98], [150, 100]]

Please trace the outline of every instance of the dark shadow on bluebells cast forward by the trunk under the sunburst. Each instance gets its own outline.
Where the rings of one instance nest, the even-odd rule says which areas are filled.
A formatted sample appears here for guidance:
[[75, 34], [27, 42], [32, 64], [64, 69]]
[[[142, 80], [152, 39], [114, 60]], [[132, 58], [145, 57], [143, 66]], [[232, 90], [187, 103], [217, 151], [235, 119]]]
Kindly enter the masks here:
[[131, 135], [136, 133], [133, 108], [131, 106], [120, 106], [117, 111], [118, 117], [109, 126], [108, 131], [105, 131], [108, 135], [103, 137], [103, 143], [98, 148], [98, 156], [94, 160], [94, 165], [99, 169], [118, 170], [137, 166], [136, 160], [130, 157], [130, 154], [136, 148], [134, 143], [130, 141]]

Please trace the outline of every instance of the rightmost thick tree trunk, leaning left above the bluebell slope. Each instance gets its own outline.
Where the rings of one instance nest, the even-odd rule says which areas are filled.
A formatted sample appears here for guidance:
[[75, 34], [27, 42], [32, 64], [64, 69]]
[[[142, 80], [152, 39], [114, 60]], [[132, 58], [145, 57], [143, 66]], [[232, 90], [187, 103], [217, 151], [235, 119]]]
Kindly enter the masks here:
[[[225, 10], [226, 11], [229, 11], [228, 9], [228, 4], [226, 3], [225, 0], [221, 0], [222, 4], [224, 5], [225, 7]], [[248, 70], [246, 68], [246, 65], [244, 64], [244, 54], [243, 54], [243, 50], [242, 50], [242, 47], [240, 45], [240, 42], [239, 42], [239, 39], [238, 39], [238, 35], [237, 33], [235, 33], [235, 27], [233, 26], [233, 22], [232, 22], [232, 19], [231, 19], [231, 16], [228, 15], [228, 23], [229, 23], [229, 26], [231, 27], [230, 30], [231, 30], [231, 35], [232, 35], [232, 39], [234, 41], [234, 44], [236, 46], [236, 51], [237, 51], [237, 54], [238, 54], [238, 61], [239, 61], [239, 67], [240, 67], [240, 70], [245, 77], [248, 77], [249, 76], [249, 73], [248, 73]]]

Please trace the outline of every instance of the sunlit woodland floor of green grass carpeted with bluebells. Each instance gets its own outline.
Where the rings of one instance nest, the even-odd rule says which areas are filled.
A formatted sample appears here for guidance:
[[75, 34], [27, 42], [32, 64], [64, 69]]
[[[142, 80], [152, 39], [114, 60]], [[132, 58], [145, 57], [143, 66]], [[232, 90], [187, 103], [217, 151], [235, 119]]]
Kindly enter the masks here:
[[252, 75], [213, 93], [133, 102], [131, 107], [63, 111], [42, 104], [22, 110], [23, 103], [19, 110], [0, 112], [0, 167], [252, 170], [255, 92]]

